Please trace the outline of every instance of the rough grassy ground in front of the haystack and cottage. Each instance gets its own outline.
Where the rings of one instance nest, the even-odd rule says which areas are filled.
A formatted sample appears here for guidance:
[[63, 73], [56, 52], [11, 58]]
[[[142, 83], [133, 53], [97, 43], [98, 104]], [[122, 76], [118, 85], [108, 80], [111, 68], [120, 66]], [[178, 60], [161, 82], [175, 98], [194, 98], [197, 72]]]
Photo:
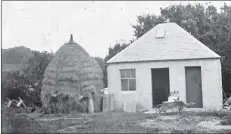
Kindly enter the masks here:
[[[2, 132], [33, 133], [228, 133], [231, 111], [167, 114], [108, 112], [42, 115], [2, 110]], [[221, 125], [223, 121], [223, 125]], [[224, 123], [226, 121], [226, 123]], [[227, 125], [229, 124], [229, 125]]]

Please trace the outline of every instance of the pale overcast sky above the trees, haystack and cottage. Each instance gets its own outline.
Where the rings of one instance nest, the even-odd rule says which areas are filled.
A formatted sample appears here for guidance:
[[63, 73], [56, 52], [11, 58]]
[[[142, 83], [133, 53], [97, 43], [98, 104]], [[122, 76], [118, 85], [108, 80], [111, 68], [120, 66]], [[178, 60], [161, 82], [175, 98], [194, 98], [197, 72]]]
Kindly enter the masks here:
[[[224, 2], [210, 3], [219, 9]], [[56, 52], [73, 34], [91, 56], [104, 58], [116, 42], [135, 39], [138, 15], [159, 15], [160, 7], [180, 3], [209, 1], [3, 1], [2, 48]]]

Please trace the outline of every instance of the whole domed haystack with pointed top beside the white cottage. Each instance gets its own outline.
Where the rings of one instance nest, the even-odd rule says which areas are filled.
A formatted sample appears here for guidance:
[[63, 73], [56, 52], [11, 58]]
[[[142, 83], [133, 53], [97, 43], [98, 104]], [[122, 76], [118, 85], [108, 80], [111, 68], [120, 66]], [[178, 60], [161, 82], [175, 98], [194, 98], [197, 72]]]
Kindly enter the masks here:
[[43, 79], [41, 99], [47, 113], [86, 112], [87, 104], [79, 100], [84, 88], [94, 86], [94, 109], [100, 111], [103, 73], [98, 63], [71, 39], [55, 53]]

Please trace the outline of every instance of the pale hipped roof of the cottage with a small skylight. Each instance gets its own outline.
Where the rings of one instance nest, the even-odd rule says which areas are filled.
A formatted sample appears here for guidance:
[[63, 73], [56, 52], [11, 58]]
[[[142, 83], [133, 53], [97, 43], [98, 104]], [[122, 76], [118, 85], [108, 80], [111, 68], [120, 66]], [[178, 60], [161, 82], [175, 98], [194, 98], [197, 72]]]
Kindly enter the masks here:
[[176, 23], [162, 23], [149, 30], [107, 63], [201, 58], [220, 58], [220, 56]]

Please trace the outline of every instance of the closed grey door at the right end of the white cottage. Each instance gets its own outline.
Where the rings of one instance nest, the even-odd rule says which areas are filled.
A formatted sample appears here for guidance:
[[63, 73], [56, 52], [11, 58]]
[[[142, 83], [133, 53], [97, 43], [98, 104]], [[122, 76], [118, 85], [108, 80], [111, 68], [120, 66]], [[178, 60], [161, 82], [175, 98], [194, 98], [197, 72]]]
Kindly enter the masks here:
[[191, 108], [202, 108], [201, 67], [185, 67], [187, 102], [195, 102]]

